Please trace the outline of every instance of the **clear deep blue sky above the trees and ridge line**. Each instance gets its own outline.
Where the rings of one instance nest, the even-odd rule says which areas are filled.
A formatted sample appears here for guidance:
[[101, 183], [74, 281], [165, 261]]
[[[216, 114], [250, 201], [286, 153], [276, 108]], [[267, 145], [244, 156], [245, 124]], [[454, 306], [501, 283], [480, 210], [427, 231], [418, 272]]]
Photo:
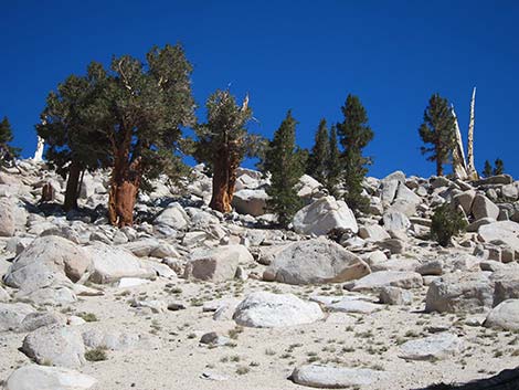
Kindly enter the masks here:
[[[454, 103], [466, 136], [477, 86], [475, 156], [519, 177], [519, 2], [510, 1], [1, 1], [0, 116], [31, 156], [46, 94], [92, 60], [144, 59], [181, 42], [197, 103], [216, 88], [251, 95], [251, 130], [271, 137], [288, 108], [311, 147], [321, 117], [341, 120], [348, 93], [375, 137], [370, 175], [430, 176], [417, 127], [431, 94]], [[202, 110], [199, 119], [204, 120]]]

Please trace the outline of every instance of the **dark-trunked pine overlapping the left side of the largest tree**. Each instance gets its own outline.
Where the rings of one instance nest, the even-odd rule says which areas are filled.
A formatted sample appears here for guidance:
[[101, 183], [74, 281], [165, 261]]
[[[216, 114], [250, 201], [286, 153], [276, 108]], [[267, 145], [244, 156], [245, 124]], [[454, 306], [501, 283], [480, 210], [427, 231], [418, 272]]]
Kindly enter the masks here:
[[65, 211], [77, 208], [82, 173], [109, 165], [109, 140], [97, 126], [105, 115], [99, 94], [106, 81], [106, 72], [95, 62], [86, 76], [68, 76], [49, 94], [42, 122], [35, 126], [47, 146], [47, 162], [66, 178]]

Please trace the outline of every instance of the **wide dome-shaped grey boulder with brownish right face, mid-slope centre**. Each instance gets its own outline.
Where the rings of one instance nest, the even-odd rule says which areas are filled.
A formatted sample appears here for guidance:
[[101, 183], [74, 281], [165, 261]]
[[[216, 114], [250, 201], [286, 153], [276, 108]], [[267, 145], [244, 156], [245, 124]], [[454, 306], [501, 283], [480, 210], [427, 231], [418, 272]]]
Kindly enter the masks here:
[[288, 284], [340, 283], [370, 273], [359, 256], [327, 239], [284, 246], [264, 273], [264, 280]]

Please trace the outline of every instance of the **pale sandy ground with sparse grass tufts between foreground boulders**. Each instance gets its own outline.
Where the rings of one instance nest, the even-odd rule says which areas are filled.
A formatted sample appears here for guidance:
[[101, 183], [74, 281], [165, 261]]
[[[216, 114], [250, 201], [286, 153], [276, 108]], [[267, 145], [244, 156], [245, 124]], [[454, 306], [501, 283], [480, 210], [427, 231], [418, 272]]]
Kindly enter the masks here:
[[[382, 379], [367, 389], [417, 389], [438, 381], [484, 378], [519, 366], [517, 335], [467, 326], [466, 318], [456, 315], [422, 313], [426, 287], [413, 292], [415, 302], [409, 307], [384, 306], [370, 315], [331, 315], [311, 325], [286, 328], [237, 328], [237, 336], [229, 346], [208, 348], [199, 344], [204, 333], [229, 336], [230, 330], [236, 329], [233, 320], [216, 322], [212, 313], [203, 313], [200, 306], [203, 302], [244, 297], [252, 291], [290, 292], [300, 297], [346, 294], [340, 287], [288, 286], [252, 280], [222, 284], [158, 280], [130, 288], [104, 286], [105, 296], [82, 297], [71, 307], [60, 309], [95, 314], [98, 320], [82, 325], [84, 329], [137, 333], [148, 335], [152, 341], [153, 347], [108, 351], [107, 360], [83, 366], [80, 371], [98, 380], [95, 390], [303, 389], [287, 378], [294, 367], [313, 360], [381, 370]], [[133, 297], [181, 301], [188, 308], [151, 314], [131, 308]], [[462, 351], [434, 362], [399, 358], [400, 344], [427, 336], [434, 328], [447, 328], [459, 335]], [[29, 361], [18, 350], [24, 336], [0, 334], [1, 379]], [[218, 373], [226, 380], [202, 379], [203, 372]]]

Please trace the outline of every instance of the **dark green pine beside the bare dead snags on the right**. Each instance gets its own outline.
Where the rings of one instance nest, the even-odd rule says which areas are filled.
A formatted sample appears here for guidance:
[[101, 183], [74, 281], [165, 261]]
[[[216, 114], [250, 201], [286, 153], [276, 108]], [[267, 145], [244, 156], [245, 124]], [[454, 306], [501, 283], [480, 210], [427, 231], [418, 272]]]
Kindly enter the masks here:
[[422, 155], [431, 154], [428, 161], [436, 161], [436, 175], [443, 176], [443, 166], [448, 164], [455, 148], [455, 118], [446, 98], [431, 96], [420, 126], [420, 137], [431, 147], [422, 147]]

